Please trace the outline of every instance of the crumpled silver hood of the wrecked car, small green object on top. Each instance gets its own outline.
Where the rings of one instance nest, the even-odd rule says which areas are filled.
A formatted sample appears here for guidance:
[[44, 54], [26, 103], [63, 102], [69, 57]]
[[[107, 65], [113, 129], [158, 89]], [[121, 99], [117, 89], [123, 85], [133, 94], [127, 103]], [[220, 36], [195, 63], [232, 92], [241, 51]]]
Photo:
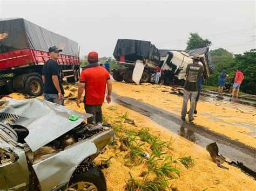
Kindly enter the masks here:
[[[71, 114], [78, 114], [78, 119], [70, 121]], [[44, 100], [9, 98], [0, 101], [0, 120], [28, 129], [29, 135], [24, 140], [32, 151], [62, 136], [91, 116]]]

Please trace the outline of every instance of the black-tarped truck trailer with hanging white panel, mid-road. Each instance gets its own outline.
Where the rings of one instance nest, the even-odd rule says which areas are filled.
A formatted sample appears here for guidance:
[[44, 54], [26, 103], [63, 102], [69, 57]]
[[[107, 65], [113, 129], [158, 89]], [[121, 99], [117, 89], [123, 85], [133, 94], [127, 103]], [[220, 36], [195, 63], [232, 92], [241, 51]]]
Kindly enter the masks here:
[[112, 70], [113, 79], [126, 83], [153, 81], [160, 63], [159, 49], [144, 40], [118, 39], [113, 56], [122, 66]]

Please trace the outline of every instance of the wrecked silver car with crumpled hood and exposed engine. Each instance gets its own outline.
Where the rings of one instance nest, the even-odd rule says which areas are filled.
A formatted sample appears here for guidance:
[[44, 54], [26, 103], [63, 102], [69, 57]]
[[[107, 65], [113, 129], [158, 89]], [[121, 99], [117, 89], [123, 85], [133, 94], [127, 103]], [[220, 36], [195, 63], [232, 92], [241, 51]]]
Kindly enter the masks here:
[[90, 116], [44, 100], [0, 101], [0, 190], [106, 190], [91, 161], [114, 131], [86, 124]]

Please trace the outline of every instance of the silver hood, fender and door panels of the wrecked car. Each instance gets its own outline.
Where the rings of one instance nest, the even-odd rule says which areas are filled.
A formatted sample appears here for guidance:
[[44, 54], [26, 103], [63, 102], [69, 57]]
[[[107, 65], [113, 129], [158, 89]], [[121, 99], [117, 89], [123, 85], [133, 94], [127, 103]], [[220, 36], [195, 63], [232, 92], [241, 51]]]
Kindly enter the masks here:
[[[0, 121], [21, 125], [29, 130], [29, 135], [24, 139], [26, 143], [21, 144], [0, 129], [0, 150], [16, 156], [10, 157], [13, 160], [4, 164], [0, 163], [0, 190], [28, 188], [30, 183], [28, 176], [31, 171], [27, 164], [28, 154], [35, 155], [36, 152], [43, 150], [46, 144], [91, 116], [37, 99], [23, 101], [6, 99], [0, 101], [0, 105], [2, 105]], [[76, 121], [70, 121], [69, 116], [74, 113], [79, 117]], [[90, 138], [66, 146], [63, 150], [53, 150], [30, 161], [41, 190], [51, 190], [68, 183], [76, 167], [91, 155], [102, 152], [113, 136], [113, 130], [106, 128]]]

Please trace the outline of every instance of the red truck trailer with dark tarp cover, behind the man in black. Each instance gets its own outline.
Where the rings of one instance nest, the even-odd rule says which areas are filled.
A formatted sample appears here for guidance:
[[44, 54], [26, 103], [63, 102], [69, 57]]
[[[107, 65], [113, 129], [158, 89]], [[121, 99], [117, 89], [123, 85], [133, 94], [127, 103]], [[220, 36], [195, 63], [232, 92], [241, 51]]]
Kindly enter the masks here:
[[80, 77], [78, 44], [23, 18], [0, 19], [0, 87], [32, 96], [43, 93], [42, 69], [48, 48], [63, 49], [58, 59], [61, 79]]

